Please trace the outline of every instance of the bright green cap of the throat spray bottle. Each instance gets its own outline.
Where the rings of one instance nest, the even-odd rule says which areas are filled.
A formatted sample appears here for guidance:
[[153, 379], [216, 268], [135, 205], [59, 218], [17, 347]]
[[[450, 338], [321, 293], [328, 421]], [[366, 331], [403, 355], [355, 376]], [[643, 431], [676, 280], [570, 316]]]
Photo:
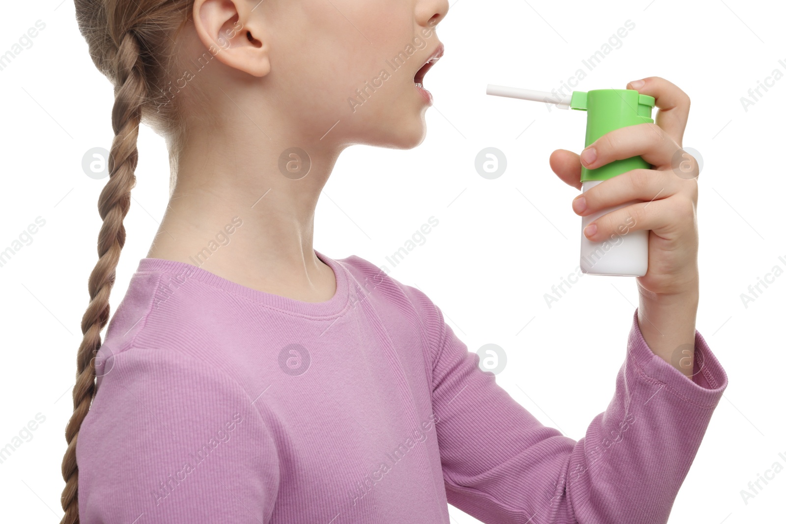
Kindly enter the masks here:
[[[587, 112], [587, 130], [584, 147], [610, 131], [640, 123], [652, 123], [652, 107], [655, 98], [635, 90], [600, 89], [587, 92], [574, 91], [571, 96], [571, 109]], [[652, 166], [641, 156], [615, 160], [597, 169], [582, 166], [581, 181], [608, 180], [618, 174]]]

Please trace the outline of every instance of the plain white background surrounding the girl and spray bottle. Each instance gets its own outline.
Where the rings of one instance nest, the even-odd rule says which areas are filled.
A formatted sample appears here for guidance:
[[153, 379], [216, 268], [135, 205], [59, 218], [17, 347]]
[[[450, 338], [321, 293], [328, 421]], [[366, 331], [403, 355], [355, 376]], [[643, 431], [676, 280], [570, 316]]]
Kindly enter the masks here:
[[[8, 2], [0, 53], [36, 20], [46, 28], [0, 71], [0, 250], [36, 217], [33, 242], [0, 268], [0, 447], [37, 413], [33, 438], [0, 464], [3, 520], [58, 522], [64, 427], [71, 415], [86, 280], [97, 260], [104, 180], [83, 154], [112, 140], [112, 88], [94, 68], [72, 2]], [[692, 98], [685, 147], [703, 156], [699, 179], [701, 299], [697, 329], [729, 374], [670, 522], [784, 519], [786, 472], [744, 504], [740, 490], [774, 462], [786, 467], [784, 322], [786, 276], [744, 306], [740, 294], [773, 266], [786, 269], [784, 97], [776, 82], [747, 112], [740, 97], [778, 68], [786, 73], [782, 2], [546, 2], [457, 0], [439, 26], [445, 57], [428, 73], [435, 95], [428, 137], [410, 151], [355, 146], [340, 157], [317, 209], [314, 247], [378, 266], [432, 215], [439, 225], [391, 276], [439, 305], [470, 350], [505, 349], [498, 383], [543, 423], [582, 438], [612, 397], [637, 305], [629, 277], [582, 277], [549, 306], [543, 298], [578, 265], [576, 190], [549, 169], [556, 148], [580, 151], [586, 114], [485, 94], [487, 83], [551, 90], [626, 20], [622, 46], [577, 89], [623, 89], [649, 75]], [[112, 311], [149, 248], [168, 196], [163, 139], [141, 130], [138, 185], [125, 220], [127, 244]], [[505, 152], [495, 180], [477, 152]], [[329, 197], [329, 198], [328, 198]], [[526, 328], [524, 327], [526, 325]], [[494, 445], [484, 442], [483, 445]], [[454, 522], [477, 522], [450, 508]]]

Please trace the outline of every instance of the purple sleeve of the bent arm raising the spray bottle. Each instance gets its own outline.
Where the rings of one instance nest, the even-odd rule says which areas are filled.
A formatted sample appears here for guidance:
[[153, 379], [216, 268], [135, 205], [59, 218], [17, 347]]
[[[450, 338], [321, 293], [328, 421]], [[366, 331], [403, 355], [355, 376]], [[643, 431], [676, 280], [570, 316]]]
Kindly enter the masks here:
[[439, 334], [432, 406], [450, 504], [489, 524], [667, 522], [727, 384], [700, 333], [690, 379], [652, 353], [634, 312], [612, 401], [576, 442], [481, 371], [439, 308], [417, 294]]

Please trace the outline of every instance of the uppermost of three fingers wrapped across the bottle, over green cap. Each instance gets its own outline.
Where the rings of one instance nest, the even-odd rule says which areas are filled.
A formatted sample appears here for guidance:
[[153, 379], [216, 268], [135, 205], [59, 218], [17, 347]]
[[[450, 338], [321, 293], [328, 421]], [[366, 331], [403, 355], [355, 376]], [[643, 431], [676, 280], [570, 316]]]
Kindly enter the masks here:
[[654, 123], [641, 123], [609, 131], [588, 145], [581, 154], [587, 169], [597, 169], [614, 160], [641, 156], [653, 166], [671, 166], [681, 148], [665, 130]]

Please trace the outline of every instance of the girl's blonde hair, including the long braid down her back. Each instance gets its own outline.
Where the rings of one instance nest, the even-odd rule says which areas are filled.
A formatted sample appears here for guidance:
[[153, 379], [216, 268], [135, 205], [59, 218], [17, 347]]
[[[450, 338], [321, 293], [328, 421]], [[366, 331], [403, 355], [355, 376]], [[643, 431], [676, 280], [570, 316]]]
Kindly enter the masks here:
[[[90, 303], [82, 317], [82, 343], [76, 358], [73, 390], [74, 412], [68, 420], [63, 457], [65, 487], [61, 524], [79, 522], [77, 499], [79, 467], [76, 441], [96, 393], [94, 357], [101, 347], [101, 330], [109, 319], [109, 293], [115, 282], [120, 251], [126, 241], [123, 227], [130, 192], [136, 184], [137, 137], [143, 122], [167, 137], [170, 158], [182, 147], [185, 119], [182, 99], [167, 98], [163, 86], [176, 56], [174, 41], [193, 9], [193, 0], [75, 0], [76, 20], [90, 56], [115, 89], [112, 106], [112, 140], [108, 159], [109, 178], [98, 197], [103, 219], [98, 233], [98, 262], [90, 273]], [[190, 89], [190, 88], [189, 88]], [[194, 95], [200, 96], [198, 90]], [[177, 103], [174, 103], [174, 102]]]

